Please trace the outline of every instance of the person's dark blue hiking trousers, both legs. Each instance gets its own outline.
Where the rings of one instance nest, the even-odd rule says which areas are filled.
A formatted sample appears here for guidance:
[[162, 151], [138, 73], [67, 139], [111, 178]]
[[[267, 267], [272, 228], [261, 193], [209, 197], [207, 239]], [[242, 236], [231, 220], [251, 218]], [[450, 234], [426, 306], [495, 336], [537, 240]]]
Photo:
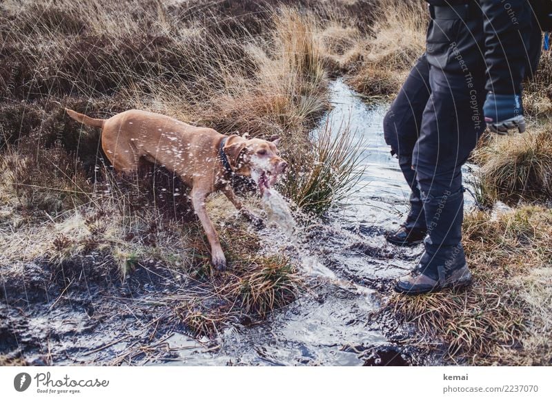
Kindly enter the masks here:
[[444, 72], [418, 59], [384, 118], [384, 136], [411, 187], [404, 225], [427, 229], [422, 264], [431, 277], [439, 267], [465, 262], [462, 165], [484, 130], [484, 71]]

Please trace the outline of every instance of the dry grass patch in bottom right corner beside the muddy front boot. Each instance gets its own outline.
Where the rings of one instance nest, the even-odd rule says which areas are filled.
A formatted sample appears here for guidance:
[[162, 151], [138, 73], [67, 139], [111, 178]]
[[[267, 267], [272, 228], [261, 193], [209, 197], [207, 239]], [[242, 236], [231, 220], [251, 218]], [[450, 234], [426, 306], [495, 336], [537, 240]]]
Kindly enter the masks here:
[[[552, 359], [552, 212], [525, 206], [464, 222], [474, 284], [466, 291], [395, 295], [391, 306], [420, 332], [420, 345], [446, 344], [445, 356], [475, 365], [543, 365]], [[429, 340], [428, 340], [429, 339]], [[437, 344], [435, 344], [437, 346]]]

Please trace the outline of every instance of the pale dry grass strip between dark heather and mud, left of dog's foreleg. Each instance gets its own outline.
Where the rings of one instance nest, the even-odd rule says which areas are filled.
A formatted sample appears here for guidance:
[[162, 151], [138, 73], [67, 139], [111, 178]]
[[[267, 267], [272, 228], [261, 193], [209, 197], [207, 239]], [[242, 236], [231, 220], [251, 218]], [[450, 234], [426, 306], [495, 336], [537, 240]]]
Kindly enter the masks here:
[[[197, 234], [197, 225], [183, 226], [162, 215], [152, 215], [152, 209], [132, 213], [112, 207], [101, 198], [95, 201], [99, 207], [79, 207], [57, 220], [24, 218], [17, 211], [8, 213], [5, 209], [6, 219], [0, 225], [3, 262], [39, 259], [61, 265], [99, 251], [110, 255], [123, 279], [133, 264], [148, 260], [170, 269], [190, 270], [194, 257], [187, 243]], [[17, 227], [14, 221], [18, 221]]]

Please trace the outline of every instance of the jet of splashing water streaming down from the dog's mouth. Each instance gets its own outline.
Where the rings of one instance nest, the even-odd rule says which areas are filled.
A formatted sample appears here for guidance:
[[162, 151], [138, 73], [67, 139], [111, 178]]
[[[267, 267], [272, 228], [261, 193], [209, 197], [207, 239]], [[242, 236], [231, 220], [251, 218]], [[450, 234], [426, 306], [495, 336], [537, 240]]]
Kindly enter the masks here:
[[273, 189], [265, 189], [262, 196], [262, 202], [268, 221], [275, 222], [275, 224], [284, 231], [285, 235], [295, 247], [304, 272], [311, 276], [321, 277], [340, 288], [346, 290], [353, 289], [359, 295], [373, 295], [371, 289], [339, 279], [331, 269], [320, 262], [315, 254], [309, 251], [308, 246], [306, 246], [306, 243], [299, 234], [297, 222], [295, 222], [295, 218], [293, 218], [288, 203], [280, 193]]

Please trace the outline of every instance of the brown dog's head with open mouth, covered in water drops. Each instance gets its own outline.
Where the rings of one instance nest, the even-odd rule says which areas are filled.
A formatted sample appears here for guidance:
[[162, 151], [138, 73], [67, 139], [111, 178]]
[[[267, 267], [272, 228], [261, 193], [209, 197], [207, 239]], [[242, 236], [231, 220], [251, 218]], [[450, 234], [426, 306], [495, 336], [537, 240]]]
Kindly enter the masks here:
[[278, 144], [277, 136], [263, 140], [232, 135], [226, 140], [224, 152], [235, 173], [253, 178], [262, 194], [264, 189], [275, 184], [288, 167], [288, 163], [279, 156]]

